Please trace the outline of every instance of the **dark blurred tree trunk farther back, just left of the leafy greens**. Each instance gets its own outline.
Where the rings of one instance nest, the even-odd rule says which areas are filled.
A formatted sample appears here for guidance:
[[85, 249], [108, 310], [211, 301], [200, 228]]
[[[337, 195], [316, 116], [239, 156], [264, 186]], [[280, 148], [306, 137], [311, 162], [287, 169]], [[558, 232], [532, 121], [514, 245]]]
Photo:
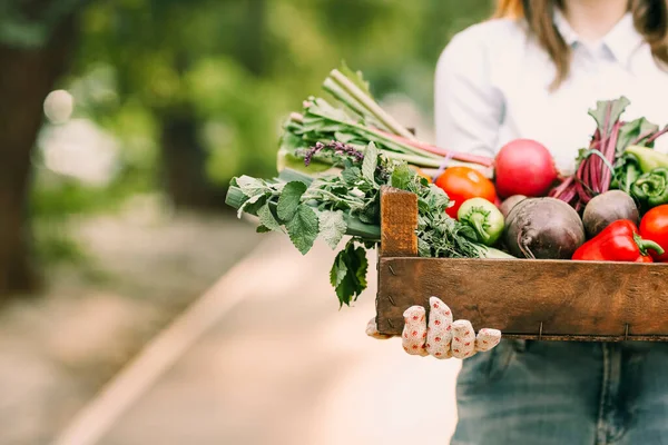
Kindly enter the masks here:
[[225, 190], [206, 179], [206, 150], [195, 113], [184, 107], [161, 113], [165, 189], [177, 208], [225, 208]]

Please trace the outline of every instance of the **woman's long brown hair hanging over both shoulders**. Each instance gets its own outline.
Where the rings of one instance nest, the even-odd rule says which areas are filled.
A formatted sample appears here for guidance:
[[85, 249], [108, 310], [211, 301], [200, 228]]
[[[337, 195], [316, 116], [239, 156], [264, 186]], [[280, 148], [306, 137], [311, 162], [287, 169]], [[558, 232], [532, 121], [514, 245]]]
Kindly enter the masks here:
[[[552, 20], [554, 8], [562, 8], [562, 0], [499, 0], [494, 17], [527, 20], [530, 32], [557, 67], [552, 87], [558, 87], [568, 77], [571, 53]], [[629, 0], [629, 10], [655, 59], [668, 66], [668, 0]]]

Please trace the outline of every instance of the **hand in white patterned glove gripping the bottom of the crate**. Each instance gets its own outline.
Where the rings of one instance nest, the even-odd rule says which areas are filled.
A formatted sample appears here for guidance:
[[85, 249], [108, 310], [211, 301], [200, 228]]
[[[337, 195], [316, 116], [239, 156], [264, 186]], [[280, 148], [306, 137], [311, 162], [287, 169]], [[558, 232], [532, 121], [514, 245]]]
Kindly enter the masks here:
[[[452, 310], [436, 297], [429, 299], [429, 326], [422, 306], [411, 306], [404, 312], [404, 328], [401, 336], [403, 348], [411, 355], [436, 358], [469, 358], [479, 352], [490, 350], [501, 340], [498, 329], [480, 329], [478, 336], [469, 320], [452, 322]], [[385, 339], [391, 335], [380, 334], [375, 318], [366, 326], [371, 337]]]

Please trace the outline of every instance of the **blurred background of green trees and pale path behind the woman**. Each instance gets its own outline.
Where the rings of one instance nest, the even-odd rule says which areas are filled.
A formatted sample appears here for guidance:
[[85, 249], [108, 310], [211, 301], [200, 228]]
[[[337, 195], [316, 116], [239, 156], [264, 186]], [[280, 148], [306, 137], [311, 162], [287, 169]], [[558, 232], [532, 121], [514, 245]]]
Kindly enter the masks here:
[[338, 310], [334, 253], [225, 192], [342, 60], [432, 140], [492, 3], [1, 1], [0, 444], [448, 443], [459, 364], [365, 337], [374, 286]]

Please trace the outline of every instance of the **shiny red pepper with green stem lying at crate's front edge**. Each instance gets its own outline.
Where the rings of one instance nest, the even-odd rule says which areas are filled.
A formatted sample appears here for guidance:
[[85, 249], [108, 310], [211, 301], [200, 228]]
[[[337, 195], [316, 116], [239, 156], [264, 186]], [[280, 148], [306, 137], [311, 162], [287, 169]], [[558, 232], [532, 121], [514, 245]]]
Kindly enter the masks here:
[[621, 219], [610, 224], [596, 238], [580, 246], [572, 259], [648, 263], [648, 259], [651, 259], [650, 249], [659, 255], [664, 254], [664, 249], [657, 243], [642, 239], [638, 235], [638, 228], [633, 222]]

